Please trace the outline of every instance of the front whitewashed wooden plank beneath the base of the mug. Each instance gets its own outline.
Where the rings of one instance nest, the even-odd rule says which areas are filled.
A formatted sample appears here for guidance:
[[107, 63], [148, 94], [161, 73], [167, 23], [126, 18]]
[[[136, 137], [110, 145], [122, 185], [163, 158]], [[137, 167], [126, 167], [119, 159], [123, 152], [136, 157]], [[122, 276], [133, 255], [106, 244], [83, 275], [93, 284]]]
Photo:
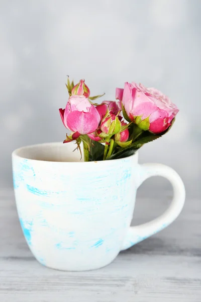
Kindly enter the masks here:
[[21, 301], [200, 301], [198, 257], [119, 255], [89, 272], [47, 269], [34, 259], [0, 262], [0, 297]]

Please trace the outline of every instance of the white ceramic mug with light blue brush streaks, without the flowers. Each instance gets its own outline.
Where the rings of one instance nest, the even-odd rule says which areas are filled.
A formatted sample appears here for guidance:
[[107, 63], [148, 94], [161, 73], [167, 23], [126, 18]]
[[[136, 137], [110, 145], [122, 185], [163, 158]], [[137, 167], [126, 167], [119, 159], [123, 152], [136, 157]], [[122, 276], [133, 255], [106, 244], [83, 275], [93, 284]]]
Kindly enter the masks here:
[[[185, 189], [171, 168], [139, 165], [137, 153], [119, 160], [80, 162], [74, 148], [74, 143], [44, 143], [12, 154], [20, 223], [41, 264], [67, 271], [103, 267], [179, 215]], [[130, 226], [136, 191], [155, 175], [172, 184], [172, 203], [158, 218]]]

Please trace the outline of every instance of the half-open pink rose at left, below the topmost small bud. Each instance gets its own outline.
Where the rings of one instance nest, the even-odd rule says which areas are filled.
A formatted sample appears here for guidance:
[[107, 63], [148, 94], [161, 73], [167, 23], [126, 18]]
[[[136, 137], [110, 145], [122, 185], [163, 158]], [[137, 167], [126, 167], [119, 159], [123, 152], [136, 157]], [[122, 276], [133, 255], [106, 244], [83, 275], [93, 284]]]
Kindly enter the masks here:
[[94, 132], [100, 116], [95, 106], [91, 105], [84, 96], [71, 96], [65, 109], [59, 109], [64, 126], [79, 134]]

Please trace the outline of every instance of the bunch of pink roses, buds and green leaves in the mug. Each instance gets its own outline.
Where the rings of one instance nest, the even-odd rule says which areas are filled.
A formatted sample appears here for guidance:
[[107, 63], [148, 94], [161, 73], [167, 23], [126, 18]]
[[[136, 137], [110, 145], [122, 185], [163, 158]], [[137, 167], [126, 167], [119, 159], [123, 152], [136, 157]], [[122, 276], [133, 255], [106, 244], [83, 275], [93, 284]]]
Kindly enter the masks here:
[[172, 126], [178, 108], [154, 88], [126, 82], [116, 88], [116, 100], [93, 103], [99, 97], [80, 80], [66, 84], [69, 99], [59, 109], [66, 134], [64, 143], [75, 141], [80, 150], [83, 143], [84, 161], [105, 161], [133, 155], [145, 143], [164, 135]]

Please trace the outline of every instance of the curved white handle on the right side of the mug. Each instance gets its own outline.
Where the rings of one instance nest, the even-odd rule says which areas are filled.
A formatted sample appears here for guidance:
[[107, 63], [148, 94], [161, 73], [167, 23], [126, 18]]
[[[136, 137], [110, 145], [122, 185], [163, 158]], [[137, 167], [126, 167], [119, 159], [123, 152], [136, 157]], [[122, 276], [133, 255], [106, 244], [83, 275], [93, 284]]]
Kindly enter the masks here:
[[157, 218], [136, 226], [130, 226], [125, 236], [121, 251], [156, 234], [166, 228], [181, 212], [185, 201], [185, 188], [180, 176], [170, 167], [161, 164], [139, 165], [139, 187], [151, 176], [167, 178], [173, 187], [173, 200], [169, 208]]

